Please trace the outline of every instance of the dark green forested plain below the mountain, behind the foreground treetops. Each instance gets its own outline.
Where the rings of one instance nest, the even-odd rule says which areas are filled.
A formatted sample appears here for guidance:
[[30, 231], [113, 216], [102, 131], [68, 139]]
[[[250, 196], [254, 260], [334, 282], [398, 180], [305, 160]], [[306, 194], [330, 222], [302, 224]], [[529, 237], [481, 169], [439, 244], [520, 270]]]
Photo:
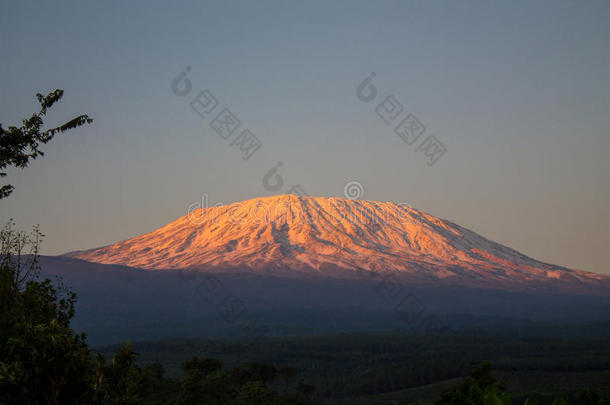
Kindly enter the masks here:
[[[108, 356], [120, 346], [96, 349]], [[174, 378], [182, 375], [181, 364], [190, 356], [222, 359], [228, 368], [244, 360], [294, 368], [294, 383], [313, 386], [312, 398], [324, 403], [434, 403], [482, 364], [517, 404], [527, 398], [541, 404], [557, 398], [583, 403], [583, 392], [598, 392], [601, 398], [610, 391], [606, 338], [378, 332], [269, 338], [256, 344], [177, 339], [138, 342], [134, 350], [140, 364], [163, 364]], [[281, 381], [270, 383], [284, 387]]]

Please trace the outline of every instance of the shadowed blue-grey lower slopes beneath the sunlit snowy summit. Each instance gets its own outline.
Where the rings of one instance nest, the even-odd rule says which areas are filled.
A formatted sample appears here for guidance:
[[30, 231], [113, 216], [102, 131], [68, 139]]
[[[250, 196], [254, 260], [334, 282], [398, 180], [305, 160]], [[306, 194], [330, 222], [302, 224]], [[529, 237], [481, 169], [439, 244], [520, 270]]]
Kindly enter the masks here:
[[257, 339], [349, 331], [610, 337], [610, 296], [388, 283], [384, 277], [278, 277], [151, 271], [43, 256], [42, 277], [78, 294], [72, 326], [91, 344]]

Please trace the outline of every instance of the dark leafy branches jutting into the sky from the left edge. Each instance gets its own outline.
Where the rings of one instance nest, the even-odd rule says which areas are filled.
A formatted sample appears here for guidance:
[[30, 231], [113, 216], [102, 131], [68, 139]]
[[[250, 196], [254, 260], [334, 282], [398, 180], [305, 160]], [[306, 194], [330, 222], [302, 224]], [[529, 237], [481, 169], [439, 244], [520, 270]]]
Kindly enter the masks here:
[[[0, 124], [0, 177], [6, 176], [7, 167], [23, 169], [28, 166], [30, 159], [43, 156], [44, 153], [39, 149], [40, 144], [46, 144], [56, 134], [93, 122], [93, 119], [83, 114], [58, 127], [43, 130], [43, 117], [63, 95], [64, 91], [60, 89], [47, 95], [37, 93], [40, 111], [33, 113], [30, 118], [23, 119], [20, 127], [10, 126], [5, 130]], [[0, 199], [8, 197], [13, 189], [10, 184], [0, 187]]]

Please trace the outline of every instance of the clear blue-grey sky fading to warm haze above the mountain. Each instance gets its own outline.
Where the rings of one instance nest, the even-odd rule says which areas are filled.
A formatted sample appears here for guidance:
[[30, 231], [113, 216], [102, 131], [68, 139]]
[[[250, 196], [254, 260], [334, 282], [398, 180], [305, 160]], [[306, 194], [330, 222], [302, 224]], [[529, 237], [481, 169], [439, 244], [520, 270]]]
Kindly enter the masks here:
[[[48, 125], [94, 122], [8, 171], [0, 220], [40, 224], [43, 253], [61, 254], [204, 195], [342, 197], [357, 182], [361, 198], [610, 274], [609, 21], [605, 0], [3, 2], [0, 123], [56, 88]], [[217, 107], [200, 116], [203, 90]], [[227, 139], [211, 126], [224, 108], [241, 122]], [[425, 127], [412, 144], [394, 132], [409, 114]], [[244, 129], [261, 142], [248, 159]], [[281, 187], [263, 182], [274, 167]]]

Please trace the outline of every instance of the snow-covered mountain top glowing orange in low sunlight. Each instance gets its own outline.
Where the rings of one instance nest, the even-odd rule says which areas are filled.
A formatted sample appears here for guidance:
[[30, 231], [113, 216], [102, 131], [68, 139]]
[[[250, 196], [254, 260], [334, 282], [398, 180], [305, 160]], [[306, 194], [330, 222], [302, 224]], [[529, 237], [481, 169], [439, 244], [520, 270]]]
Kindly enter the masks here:
[[610, 291], [610, 277], [543, 263], [405, 205], [280, 195], [201, 208], [153, 232], [66, 256], [153, 270]]

